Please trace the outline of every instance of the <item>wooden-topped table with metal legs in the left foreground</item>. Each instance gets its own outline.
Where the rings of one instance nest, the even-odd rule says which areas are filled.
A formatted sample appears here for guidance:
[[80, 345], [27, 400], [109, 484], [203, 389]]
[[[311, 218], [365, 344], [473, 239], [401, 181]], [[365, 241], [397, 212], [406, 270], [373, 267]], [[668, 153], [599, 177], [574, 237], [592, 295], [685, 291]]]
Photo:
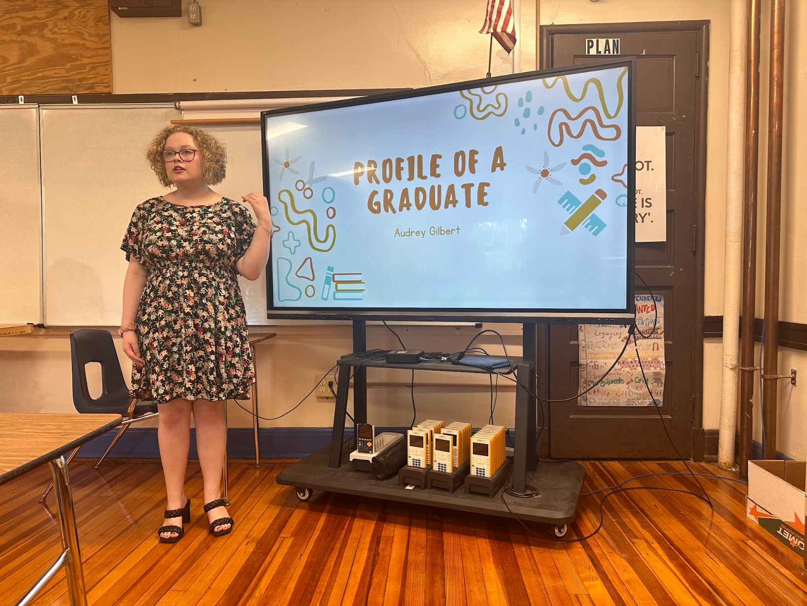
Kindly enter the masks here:
[[30, 603], [61, 566], [66, 568], [70, 604], [86, 606], [76, 515], [64, 454], [118, 426], [122, 420], [119, 415], [79, 415], [75, 412], [0, 412], [0, 484], [50, 463], [59, 504], [61, 556], [15, 603], [17, 606]]

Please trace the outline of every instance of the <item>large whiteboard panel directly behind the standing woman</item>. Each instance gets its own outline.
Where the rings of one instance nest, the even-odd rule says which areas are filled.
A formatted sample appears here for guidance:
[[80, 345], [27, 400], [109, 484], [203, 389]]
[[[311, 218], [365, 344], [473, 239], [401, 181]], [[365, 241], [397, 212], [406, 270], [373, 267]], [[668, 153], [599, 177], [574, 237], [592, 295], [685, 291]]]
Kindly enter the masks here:
[[[127, 269], [120, 250], [123, 233], [139, 203], [168, 191], [157, 181], [145, 151], [162, 127], [181, 118], [169, 103], [40, 108], [44, 240], [37, 232], [31, 242], [44, 241], [45, 324], [120, 324]], [[243, 194], [261, 192], [260, 124], [205, 129], [227, 145], [227, 178], [214, 189], [237, 202]], [[38, 190], [38, 174], [27, 179]], [[38, 265], [27, 274], [39, 279]], [[264, 274], [239, 281], [250, 325], [345, 324], [268, 320]]]

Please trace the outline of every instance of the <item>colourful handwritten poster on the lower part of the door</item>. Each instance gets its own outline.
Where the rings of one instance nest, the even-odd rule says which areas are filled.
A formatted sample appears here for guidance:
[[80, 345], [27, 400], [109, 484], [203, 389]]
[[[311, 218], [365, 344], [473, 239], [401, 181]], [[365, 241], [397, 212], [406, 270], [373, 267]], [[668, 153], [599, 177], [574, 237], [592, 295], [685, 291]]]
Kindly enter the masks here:
[[[655, 300], [650, 295], [636, 295], [636, 341], [644, 375], [631, 338], [617, 366], [592, 391], [579, 398], [580, 406], [653, 406], [645, 377], [656, 403], [662, 403], [664, 295], [654, 297]], [[629, 337], [628, 328], [627, 324], [579, 324], [580, 393], [595, 385], [619, 357]]]

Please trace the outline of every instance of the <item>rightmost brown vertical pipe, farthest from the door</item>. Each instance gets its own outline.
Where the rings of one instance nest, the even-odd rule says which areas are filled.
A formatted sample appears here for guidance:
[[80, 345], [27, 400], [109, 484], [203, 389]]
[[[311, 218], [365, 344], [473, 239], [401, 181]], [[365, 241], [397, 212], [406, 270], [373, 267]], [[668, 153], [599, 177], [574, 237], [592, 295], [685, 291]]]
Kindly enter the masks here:
[[782, 114], [784, 108], [784, 0], [771, 15], [770, 110], [767, 127], [767, 212], [765, 234], [765, 328], [763, 347], [763, 458], [776, 458], [776, 374], [779, 374], [779, 253], [782, 210]]

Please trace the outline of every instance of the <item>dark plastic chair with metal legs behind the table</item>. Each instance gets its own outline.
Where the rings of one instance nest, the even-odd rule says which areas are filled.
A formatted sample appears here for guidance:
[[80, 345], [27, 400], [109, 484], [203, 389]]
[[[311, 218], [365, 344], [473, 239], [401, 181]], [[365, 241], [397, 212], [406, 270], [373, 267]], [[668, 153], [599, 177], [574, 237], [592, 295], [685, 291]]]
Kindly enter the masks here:
[[[123, 381], [123, 372], [120, 370], [115, 343], [112, 341], [111, 334], [106, 330], [82, 329], [71, 332], [70, 357], [73, 361], [73, 405], [76, 410], [82, 413], [123, 416], [123, 423], [120, 425], [118, 434], [107, 448], [107, 452], [103, 453], [101, 460], [95, 464], [95, 468], [98, 469], [123, 433], [126, 433], [129, 425], [157, 417], [157, 404], [140, 402], [129, 397], [129, 388]], [[95, 399], [90, 396], [90, 390], [87, 387], [86, 365], [90, 362], [98, 362], [101, 365], [102, 392]], [[70, 453], [67, 459], [68, 465], [77, 453], [78, 449]], [[40, 503], [44, 503], [52, 487], [51, 483], [40, 498]]]

